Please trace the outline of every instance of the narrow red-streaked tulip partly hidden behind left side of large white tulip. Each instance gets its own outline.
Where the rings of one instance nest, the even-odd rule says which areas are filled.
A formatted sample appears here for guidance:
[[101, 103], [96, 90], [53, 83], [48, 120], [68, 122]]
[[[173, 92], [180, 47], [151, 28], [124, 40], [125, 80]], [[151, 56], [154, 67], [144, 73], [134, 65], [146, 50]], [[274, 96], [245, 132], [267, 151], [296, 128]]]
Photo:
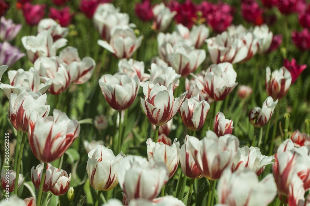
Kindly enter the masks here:
[[198, 169], [198, 166], [194, 160], [193, 154], [191, 153], [190, 141], [196, 141], [195, 144], [199, 144], [199, 140], [196, 137], [186, 135], [184, 140], [184, 145], [182, 145], [180, 150], [180, 163], [183, 173], [191, 178], [197, 179], [201, 178], [202, 174]]

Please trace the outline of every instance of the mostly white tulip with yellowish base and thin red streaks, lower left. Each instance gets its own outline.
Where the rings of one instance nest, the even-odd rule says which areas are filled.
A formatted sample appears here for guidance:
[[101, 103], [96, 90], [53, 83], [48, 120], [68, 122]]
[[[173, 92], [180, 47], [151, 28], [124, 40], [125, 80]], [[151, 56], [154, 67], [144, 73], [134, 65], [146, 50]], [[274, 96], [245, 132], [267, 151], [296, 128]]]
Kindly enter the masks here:
[[118, 184], [120, 161], [126, 156], [121, 152], [116, 157], [111, 149], [98, 145], [88, 153], [86, 171], [89, 183], [98, 191], [108, 191]]

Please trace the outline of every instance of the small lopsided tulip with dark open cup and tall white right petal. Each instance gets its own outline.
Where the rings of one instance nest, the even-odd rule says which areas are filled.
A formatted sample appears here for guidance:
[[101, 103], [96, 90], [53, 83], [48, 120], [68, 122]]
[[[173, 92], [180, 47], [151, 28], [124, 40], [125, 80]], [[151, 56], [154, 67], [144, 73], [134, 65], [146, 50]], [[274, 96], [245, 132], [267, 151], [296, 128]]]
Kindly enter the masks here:
[[249, 121], [254, 127], [263, 127], [271, 119], [274, 109], [276, 108], [278, 99], [273, 101], [269, 96], [264, 101], [262, 108], [254, 107], [249, 113]]

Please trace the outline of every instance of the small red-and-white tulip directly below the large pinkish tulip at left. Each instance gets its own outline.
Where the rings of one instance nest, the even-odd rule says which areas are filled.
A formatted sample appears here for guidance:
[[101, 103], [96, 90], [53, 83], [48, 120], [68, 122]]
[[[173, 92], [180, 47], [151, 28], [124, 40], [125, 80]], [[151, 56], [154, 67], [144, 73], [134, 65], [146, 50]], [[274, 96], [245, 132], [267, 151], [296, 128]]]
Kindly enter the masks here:
[[[31, 169], [31, 180], [34, 187], [39, 190], [42, 173], [43, 173], [44, 164], [41, 163], [36, 168], [34, 166]], [[57, 180], [61, 176], [61, 171], [57, 171], [56, 167], [53, 167], [50, 163], [47, 163], [46, 166], [46, 175], [43, 183], [42, 190], [43, 192], [50, 191], [56, 184]]]

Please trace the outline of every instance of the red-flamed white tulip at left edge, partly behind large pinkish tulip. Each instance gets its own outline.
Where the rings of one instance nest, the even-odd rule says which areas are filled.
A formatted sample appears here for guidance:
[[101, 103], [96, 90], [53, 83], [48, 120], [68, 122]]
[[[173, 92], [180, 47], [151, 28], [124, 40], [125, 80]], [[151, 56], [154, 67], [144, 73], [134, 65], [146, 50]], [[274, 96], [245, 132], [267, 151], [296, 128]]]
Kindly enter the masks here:
[[20, 132], [29, 132], [30, 117], [36, 113], [38, 117], [46, 117], [50, 112], [47, 95], [31, 90], [23, 90], [19, 95], [11, 94], [9, 100], [9, 118], [11, 124]]

